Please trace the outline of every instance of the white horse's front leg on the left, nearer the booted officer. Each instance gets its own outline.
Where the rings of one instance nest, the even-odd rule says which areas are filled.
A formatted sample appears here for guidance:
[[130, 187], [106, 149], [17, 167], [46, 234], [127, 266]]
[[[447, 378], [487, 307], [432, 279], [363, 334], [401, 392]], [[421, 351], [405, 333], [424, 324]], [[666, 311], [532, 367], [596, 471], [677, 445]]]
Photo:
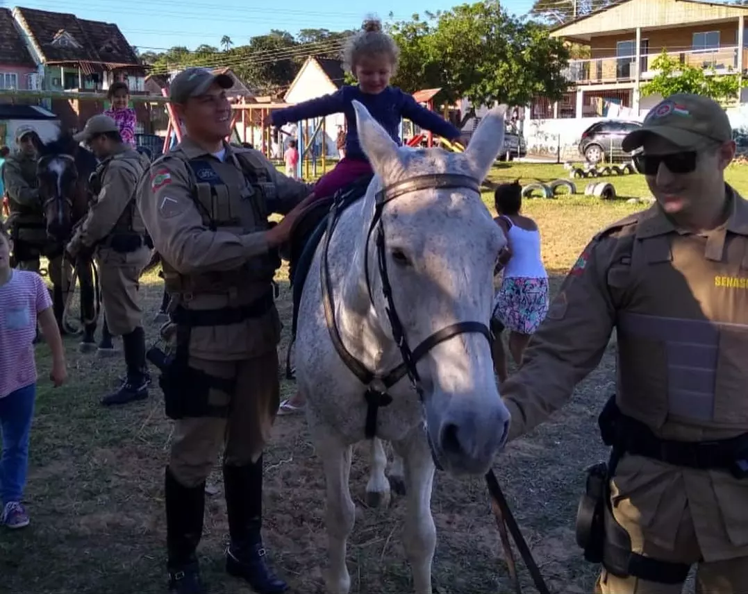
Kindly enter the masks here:
[[[310, 418], [313, 413], [309, 412]], [[325, 468], [327, 491], [325, 523], [328, 533], [328, 563], [325, 585], [329, 593], [348, 594], [351, 576], [346, 567], [346, 545], [355, 524], [356, 507], [351, 498], [351, 446], [334, 430], [310, 422], [310, 435]]]

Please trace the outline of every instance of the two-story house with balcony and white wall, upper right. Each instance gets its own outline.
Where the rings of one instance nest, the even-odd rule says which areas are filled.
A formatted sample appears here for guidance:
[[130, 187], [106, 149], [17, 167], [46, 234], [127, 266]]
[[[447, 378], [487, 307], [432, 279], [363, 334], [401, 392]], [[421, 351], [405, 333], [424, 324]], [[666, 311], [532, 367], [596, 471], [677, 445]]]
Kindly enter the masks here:
[[[551, 29], [551, 36], [574, 43], [589, 57], [569, 61], [571, 87], [561, 101], [533, 100], [524, 126], [530, 150], [545, 144], [563, 152], [602, 118], [643, 119], [661, 99], [643, 96], [641, 88], [657, 75], [652, 65], [663, 51], [709, 74], [744, 74], [747, 17], [748, 6], [739, 4], [618, 0]], [[728, 113], [741, 102], [748, 102], [746, 89]]]

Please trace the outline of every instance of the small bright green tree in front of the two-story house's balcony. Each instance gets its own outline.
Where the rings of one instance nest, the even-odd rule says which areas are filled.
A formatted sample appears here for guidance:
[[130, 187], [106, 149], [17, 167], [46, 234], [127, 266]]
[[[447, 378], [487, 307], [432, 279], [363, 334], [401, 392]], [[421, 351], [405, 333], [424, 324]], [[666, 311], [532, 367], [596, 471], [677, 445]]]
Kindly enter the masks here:
[[667, 52], [652, 61], [652, 69], [657, 75], [641, 87], [643, 96], [659, 94], [666, 97], [673, 93], [705, 95], [718, 102], [731, 102], [738, 99], [738, 91], [745, 83], [737, 73], [718, 75], [710, 70], [681, 64]]

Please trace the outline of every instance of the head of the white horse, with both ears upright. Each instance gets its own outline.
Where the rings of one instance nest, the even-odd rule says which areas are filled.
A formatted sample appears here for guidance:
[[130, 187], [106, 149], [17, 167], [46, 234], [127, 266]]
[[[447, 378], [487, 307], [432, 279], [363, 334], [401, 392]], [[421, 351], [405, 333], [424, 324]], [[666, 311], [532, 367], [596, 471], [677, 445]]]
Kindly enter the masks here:
[[479, 193], [503, 146], [506, 106], [494, 108], [458, 154], [399, 147], [354, 105], [361, 148], [377, 174], [367, 196], [375, 203], [367, 247], [375, 315], [395, 341], [401, 325], [413, 352], [435, 461], [453, 474], [483, 474], [509, 430], [488, 331], [506, 238]]

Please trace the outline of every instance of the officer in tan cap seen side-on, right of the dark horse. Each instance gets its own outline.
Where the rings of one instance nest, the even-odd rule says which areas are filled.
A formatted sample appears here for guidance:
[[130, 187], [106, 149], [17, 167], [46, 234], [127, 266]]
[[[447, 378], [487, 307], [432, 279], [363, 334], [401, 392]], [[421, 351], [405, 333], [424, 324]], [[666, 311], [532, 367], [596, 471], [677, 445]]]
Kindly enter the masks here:
[[99, 159], [91, 185], [96, 201], [67, 245], [75, 259], [96, 250], [104, 314], [109, 332], [122, 336], [127, 374], [104, 405], [148, 396], [145, 332], [138, 295], [141, 271], [150, 261], [150, 238], [135, 204], [135, 189], [150, 161], [122, 142], [119, 127], [103, 114], [91, 117], [75, 140], [85, 142]]

